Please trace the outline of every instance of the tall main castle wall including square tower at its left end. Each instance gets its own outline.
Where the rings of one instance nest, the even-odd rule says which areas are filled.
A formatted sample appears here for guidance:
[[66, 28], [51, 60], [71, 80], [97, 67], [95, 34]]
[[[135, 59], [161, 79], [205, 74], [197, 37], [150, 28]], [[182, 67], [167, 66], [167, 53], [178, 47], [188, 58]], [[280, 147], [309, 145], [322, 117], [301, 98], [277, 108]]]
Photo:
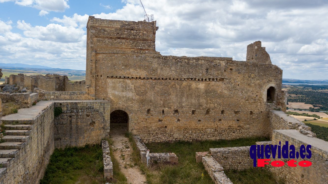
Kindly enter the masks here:
[[127, 112], [145, 143], [269, 135], [266, 90], [277, 104], [282, 82], [271, 62], [160, 55], [156, 22], [89, 17], [87, 30], [90, 94]]

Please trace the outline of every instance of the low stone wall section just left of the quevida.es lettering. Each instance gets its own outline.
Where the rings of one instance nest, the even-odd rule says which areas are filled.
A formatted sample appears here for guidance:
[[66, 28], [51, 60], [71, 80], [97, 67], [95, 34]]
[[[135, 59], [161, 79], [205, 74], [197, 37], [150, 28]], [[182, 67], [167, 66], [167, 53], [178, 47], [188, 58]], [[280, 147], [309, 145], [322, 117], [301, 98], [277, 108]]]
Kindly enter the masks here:
[[253, 160], [249, 156], [250, 146], [233, 148], [210, 148], [213, 158], [225, 170], [244, 170], [253, 167]]

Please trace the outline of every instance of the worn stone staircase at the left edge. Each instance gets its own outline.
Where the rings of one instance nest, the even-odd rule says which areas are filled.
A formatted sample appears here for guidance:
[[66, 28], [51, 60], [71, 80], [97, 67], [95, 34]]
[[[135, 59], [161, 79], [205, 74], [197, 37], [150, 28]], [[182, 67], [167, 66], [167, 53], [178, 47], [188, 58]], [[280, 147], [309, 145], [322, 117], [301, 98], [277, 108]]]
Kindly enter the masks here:
[[[13, 123], [12, 121], [4, 121], [3, 123]], [[30, 140], [32, 125], [26, 124], [4, 124], [5, 132], [0, 143], [0, 173], [5, 171], [18, 154]]]

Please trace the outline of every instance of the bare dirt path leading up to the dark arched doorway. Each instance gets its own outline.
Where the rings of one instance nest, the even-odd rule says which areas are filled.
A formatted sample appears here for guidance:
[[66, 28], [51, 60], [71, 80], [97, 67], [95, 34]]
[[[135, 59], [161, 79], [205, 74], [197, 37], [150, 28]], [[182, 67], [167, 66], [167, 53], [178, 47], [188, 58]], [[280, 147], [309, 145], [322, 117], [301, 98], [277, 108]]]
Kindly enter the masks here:
[[[113, 126], [113, 128], [112, 128]], [[131, 184], [144, 184], [146, 176], [141, 173], [138, 166], [133, 166], [131, 154], [133, 152], [129, 138], [124, 136], [126, 127], [120, 125], [111, 125], [111, 138], [113, 143], [113, 154], [116, 160], [120, 163], [119, 167], [122, 173]], [[125, 155], [125, 156], [122, 156]], [[125, 159], [123, 159], [125, 158]], [[126, 167], [126, 168], [125, 168]]]

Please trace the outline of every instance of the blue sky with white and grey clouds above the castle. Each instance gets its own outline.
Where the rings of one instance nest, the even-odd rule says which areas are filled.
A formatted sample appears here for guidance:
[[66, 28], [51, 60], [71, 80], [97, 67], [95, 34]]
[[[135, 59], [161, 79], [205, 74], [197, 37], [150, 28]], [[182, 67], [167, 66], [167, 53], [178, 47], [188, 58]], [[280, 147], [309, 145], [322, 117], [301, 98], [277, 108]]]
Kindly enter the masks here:
[[[284, 78], [328, 79], [326, 0], [142, 0], [163, 55], [246, 60], [257, 40]], [[139, 0], [0, 0], [0, 63], [85, 70], [88, 16], [144, 18]]]

